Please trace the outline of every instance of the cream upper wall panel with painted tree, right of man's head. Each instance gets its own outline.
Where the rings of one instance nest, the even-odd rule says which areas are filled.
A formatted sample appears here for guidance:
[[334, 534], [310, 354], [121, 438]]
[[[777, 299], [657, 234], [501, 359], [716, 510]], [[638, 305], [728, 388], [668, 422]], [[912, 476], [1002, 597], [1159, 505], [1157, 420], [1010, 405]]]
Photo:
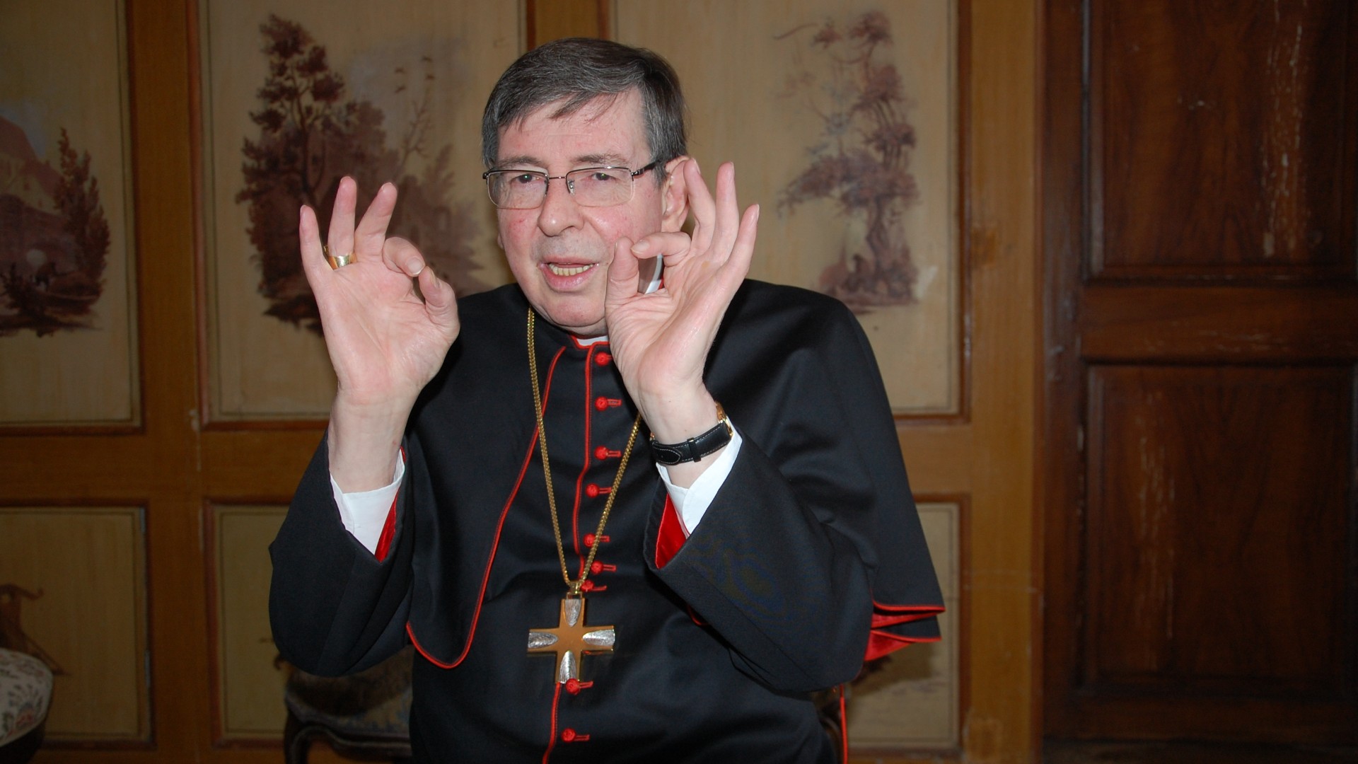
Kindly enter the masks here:
[[957, 14], [631, 1], [614, 24], [679, 72], [690, 154], [709, 174], [733, 162], [740, 204], [760, 205], [750, 276], [850, 305], [899, 416], [966, 416]]

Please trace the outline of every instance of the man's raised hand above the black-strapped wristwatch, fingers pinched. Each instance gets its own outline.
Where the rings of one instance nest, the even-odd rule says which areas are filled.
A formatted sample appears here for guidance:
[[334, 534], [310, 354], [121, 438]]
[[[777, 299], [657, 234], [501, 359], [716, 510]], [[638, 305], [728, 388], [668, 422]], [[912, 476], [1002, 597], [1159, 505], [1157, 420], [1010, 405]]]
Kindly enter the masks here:
[[[674, 231], [638, 242], [619, 239], [604, 303], [608, 343], [623, 383], [664, 443], [699, 435], [717, 421], [702, 371], [721, 318], [750, 271], [759, 220], [758, 205], [740, 213], [729, 162], [717, 169], [716, 198], [695, 160], [684, 160], [679, 171], [694, 218], [693, 235]], [[638, 258], [656, 256], [664, 257], [664, 285], [638, 294]], [[671, 477], [687, 483], [674, 468]]]

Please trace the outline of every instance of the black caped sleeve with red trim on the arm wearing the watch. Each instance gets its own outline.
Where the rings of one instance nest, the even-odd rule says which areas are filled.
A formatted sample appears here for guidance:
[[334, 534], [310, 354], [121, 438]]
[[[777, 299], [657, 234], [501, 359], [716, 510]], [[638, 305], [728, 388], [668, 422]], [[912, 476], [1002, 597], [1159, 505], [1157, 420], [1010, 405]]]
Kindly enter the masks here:
[[938, 639], [942, 597], [858, 321], [838, 300], [769, 302], [737, 296], [709, 356], [746, 438], [731, 476], [680, 544], [657, 502], [646, 555], [741, 670], [803, 692]]

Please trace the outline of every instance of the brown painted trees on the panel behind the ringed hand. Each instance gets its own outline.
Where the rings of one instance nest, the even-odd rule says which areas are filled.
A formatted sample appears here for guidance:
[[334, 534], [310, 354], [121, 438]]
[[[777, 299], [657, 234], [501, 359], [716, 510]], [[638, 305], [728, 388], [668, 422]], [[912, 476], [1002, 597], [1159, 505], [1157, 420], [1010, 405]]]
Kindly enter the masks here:
[[[488, 284], [471, 260], [475, 223], [466, 204], [452, 201], [451, 144], [430, 137], [430, 103], [437, 86], [428, 56], [390, 72], [392, 94], [403, 97], [406, 113], [388, 120], [371, 101], [352, 97], [342, 75], [331, 69], [326, 48], [299, 23], [270, 15], [259, 26], [268, 76], [257, 91], [258, 126], [242, 147], [244, 179], [236, 194], [249, 205], [249, 237], [259, 266], [259, 294], [268, 315], [319, 330], [315, 298], [301, 269], [297, 208], [311, 205], [320, 230], [342, 177], [359, 182], [359, 209], [387, 179], [395, 179], [401, 201], [390, 232], [420, 242], [421, 251], [458, 294]], [[424, 160], [416, 175], [413, 159]]]

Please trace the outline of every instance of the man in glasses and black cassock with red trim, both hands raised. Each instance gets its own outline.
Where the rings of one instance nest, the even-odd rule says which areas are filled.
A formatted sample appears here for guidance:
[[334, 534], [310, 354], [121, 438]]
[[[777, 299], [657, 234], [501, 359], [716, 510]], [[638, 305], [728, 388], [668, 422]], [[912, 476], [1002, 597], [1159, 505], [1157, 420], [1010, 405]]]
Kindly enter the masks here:
[[[566, 39], [483, 117], [516, 284], [455, 299], [340, 188], [301, 257], [340, 386], [272, 546], [282, 655], [417, 648], [420, 761], [834, 761], [808, 693], [937, 639], [866, 338], [746, 280], [758, 207], [674, 71]], [[682, 227], [691, 218], [691, 234]]]

